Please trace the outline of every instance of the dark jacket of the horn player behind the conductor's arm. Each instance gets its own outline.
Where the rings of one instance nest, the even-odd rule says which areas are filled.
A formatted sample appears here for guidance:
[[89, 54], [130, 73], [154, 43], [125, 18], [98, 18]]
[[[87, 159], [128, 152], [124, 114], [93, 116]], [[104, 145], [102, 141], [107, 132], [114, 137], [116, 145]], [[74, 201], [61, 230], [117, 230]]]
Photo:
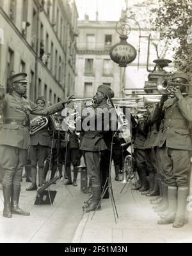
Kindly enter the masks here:
[[[33, 116], [33, 118], [35, 118], [35, 116]], [[35, 134], [30, 135], [31, 146], [41, 145], [45, 147], [51, 147], [51, 137], [48, 131], [50, 126], [49, 116], [47, 116], [47, 118], [48, 118], [47, 125], [40, 131], [36, 132]]]

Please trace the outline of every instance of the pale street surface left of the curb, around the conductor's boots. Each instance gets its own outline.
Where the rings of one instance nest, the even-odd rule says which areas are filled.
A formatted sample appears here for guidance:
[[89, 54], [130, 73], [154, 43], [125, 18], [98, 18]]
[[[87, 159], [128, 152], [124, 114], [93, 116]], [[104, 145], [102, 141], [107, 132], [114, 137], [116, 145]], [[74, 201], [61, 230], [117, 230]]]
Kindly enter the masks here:
[[[34, 205], [36, 192], [26, 192], [26, 187], [29, 185], [30, 183], [22, 181], [20, 207], [29, 210], [30, 216], [13, 215], [12, 219], [3, 217], [1, 200], [0, 242], [71, 242], [77, 225], [81, 221], [82, 202], [86, 198], [86, 195], [80, 192], [80, 186], [68, 186], [71, 195], [60, 181], [56, 185], [51, 185], [51, 190], [57, 190], [58, 193], [54, 205], [50, 206]], [[2, 199], [2, 190], [0, 195]]]

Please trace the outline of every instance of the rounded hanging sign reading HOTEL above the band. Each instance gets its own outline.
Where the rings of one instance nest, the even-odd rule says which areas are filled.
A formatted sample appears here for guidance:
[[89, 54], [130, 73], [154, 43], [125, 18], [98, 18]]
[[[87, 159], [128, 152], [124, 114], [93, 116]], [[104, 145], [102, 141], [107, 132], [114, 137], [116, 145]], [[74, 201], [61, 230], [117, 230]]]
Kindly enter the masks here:
[[109, 55], [120, 67], [127, 67], [127, 64], [136, 59], [137, 51], [126, 40], [122, 40], [111, 48]]

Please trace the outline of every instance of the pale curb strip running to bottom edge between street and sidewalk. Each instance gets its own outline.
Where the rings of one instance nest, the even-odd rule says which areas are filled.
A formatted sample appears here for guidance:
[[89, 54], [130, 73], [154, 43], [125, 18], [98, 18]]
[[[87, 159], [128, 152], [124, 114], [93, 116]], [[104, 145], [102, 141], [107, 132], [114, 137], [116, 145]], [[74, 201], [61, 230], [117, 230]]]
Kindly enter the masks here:
[[86, 227], [86, 223], [88, 222], [89, 215], [90, 213], [83, 214], [83, 217], [76, 228], [76, 232], [74, 233], [74, 237], [72, 238], [72, 241], [71, 241], [72, 244], [81, 243], [81, 239], [84, 233], [84, 228]]

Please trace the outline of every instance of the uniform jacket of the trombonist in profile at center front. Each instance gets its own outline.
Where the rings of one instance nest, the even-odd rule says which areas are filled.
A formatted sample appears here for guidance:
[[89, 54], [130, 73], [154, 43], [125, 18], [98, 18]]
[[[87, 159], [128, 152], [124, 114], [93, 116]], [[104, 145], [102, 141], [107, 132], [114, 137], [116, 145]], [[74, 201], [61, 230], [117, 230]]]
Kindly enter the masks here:
[[[90, 122], [95, 122], [95, 129], [94, 131], [91, 131], [91, 130], [84, 131], [84, 136], [81, 142], [80, 149], [83, 151], [104, 151], [108, 149], [108, 147], [104, 142], [104, 131], [102, 130], [104, 120], [103, 119], [100, 120], [100, 116], [101, 116], [100, 113], [108, 114], [107, 104], [97, 105], [97, 107], [89, 109], [88, 113], [89, 113], [88, 118], [89, 120], [91, 120]], [[96, 125], [97, 120], [99, 120], [101, 129], [98, 129]]]

